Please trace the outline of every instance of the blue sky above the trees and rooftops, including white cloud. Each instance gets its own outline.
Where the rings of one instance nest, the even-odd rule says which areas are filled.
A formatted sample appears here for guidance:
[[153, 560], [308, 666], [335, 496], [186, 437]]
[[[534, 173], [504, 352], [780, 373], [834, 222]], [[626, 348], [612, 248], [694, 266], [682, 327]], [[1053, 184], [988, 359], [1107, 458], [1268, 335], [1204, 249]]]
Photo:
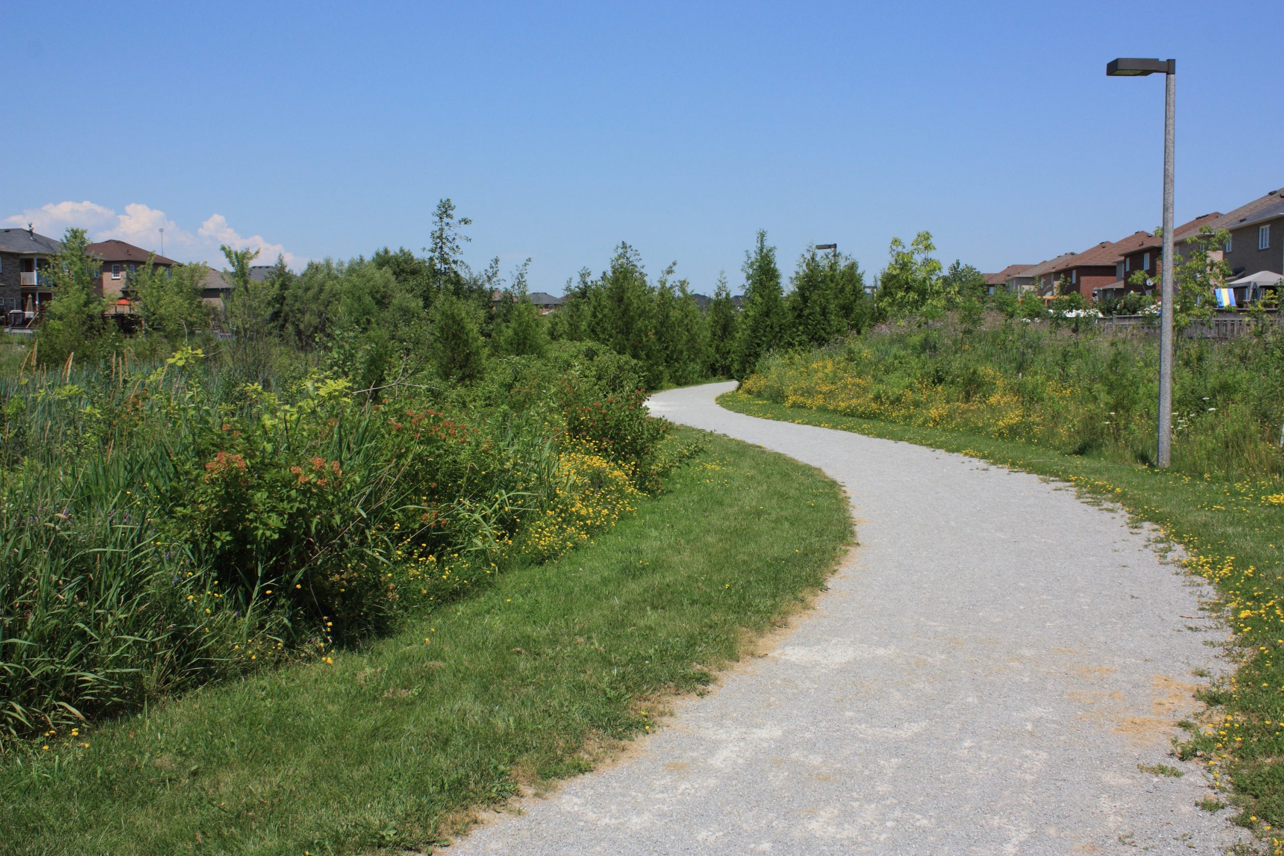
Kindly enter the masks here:
[[[294, 264], [424, 246], [561, 293], [627, 240], [732, 286], [755, 230], [792, 268], [892, 236], [982, 270], [1159, 221], [1177, 59], [1177, 221], [1284, 185], [1284, 4], [10, 3], [0, 221]], [[87, 205], [85, 203], [89, 203]], [[8, 219], [6, 219], [8, 218]], [[271, 261], [271, 259], [268, 259]]]

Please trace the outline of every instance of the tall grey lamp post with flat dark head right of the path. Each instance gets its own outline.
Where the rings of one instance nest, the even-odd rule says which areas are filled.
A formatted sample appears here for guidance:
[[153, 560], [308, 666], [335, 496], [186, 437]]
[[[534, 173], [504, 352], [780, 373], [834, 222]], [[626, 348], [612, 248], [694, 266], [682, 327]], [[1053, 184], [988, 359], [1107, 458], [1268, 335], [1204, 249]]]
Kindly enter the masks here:
[[1177, 60], [1115, 59], [1106, 64], [1109, 77], [1143, 77], [1163, 74], [1163, 304], [1159, 307], [1159, 439], [1156, 462], [1167, 467], [1172, 459], [1172, 131], [1177, 104]]

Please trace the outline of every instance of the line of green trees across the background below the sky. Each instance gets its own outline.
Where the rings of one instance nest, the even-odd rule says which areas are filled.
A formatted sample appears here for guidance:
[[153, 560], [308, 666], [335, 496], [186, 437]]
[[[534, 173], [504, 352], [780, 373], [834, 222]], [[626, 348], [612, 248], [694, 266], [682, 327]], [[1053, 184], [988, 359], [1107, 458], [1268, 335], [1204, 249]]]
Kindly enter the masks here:
[[[674, 264], [651, 277], [638, 252], [621, 243], [601, 273], [583, 268], [557, 311], [541, 316], [526, 295], [529, 259], [507, 276], [498, 259], [480, 270], [464, 261], [469, 225], [443, 199], [421, 253], [384, 248], [369, 258], [311, 262], [299, 273], [277, 259], [263, 278], [250, 276], [254, 252], [223, 246], [232, 287], [217, 318], [200, 299], [204, 264], [148, 263], [128, 282], [144, 325], [144, 335], [128, 341], [103, 321], [85, 232], [68, 230], [50, 267], [56, 298], [39, 330], [40, 359], [60, 363], [74, 353], [92, 361], [195, 343], [231, 350], [249, 380], [311, 361], [376, 388], [424, 371], [467, 382], [497, 358], [538, 355], [555, 341], [594, 341], [637, 359], [654, 389], [745, 377], [772, 350], [826, 344], [909, 312], [980, 312], [986, 299], [984, 276], [960, 262], [942, 270], [927, 232], [909, 245], [894, 239], [876, 287], [867, 289], [855, 259], [814, 246], [786, 280], [777, 249], [759, 231], [741, 267], [738, 308], [724, 273], [701, 307]], [[216, 327], [230, 336], [216, 340]]]

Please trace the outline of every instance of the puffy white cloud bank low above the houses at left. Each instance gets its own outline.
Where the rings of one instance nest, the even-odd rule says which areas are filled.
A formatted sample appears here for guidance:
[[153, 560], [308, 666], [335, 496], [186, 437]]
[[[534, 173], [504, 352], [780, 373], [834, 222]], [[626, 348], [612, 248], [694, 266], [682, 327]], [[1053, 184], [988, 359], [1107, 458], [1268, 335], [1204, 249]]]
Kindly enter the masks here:
[[286, 252], [281, 244], [268, 243], [262, 235], [243, 237], [222, 214], [212, 214], [193, 234], [166, 217], [163, 210], [143, 203], [130, 203], [125, 207], [123, 214], [89, 200], [48, 203], [0, 219], [0, 226], [24, 227], [27, 223], [49, 237], [62, 237], [67, 228], [78, 227], [83, 228], [94, 241], [114, 237], [157, 253], [160, 252], [163, 228], [166, 255], [181, 262], [205, 262], [216, 268], [226, 263], [218, 249], [220, 244], [239, 250], [257, 249], [258, 264], [272, 264], [277, 255], [291, 268], [299, 268], [308, 261]]

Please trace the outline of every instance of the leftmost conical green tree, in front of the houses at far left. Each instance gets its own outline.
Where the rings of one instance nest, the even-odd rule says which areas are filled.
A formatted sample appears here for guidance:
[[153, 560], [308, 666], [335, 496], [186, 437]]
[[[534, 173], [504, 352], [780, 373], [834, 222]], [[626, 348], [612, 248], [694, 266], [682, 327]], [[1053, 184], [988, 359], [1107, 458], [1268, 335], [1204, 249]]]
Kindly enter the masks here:
[[100, 266], [87, 246], [83, 228], [68, 228], [62, 252], [50, 259], [48, 272], [55, 296], [36, 332], [36, 353], [46, 364], [63, 363], [73, 353], [96, 358], [104, 344]]

